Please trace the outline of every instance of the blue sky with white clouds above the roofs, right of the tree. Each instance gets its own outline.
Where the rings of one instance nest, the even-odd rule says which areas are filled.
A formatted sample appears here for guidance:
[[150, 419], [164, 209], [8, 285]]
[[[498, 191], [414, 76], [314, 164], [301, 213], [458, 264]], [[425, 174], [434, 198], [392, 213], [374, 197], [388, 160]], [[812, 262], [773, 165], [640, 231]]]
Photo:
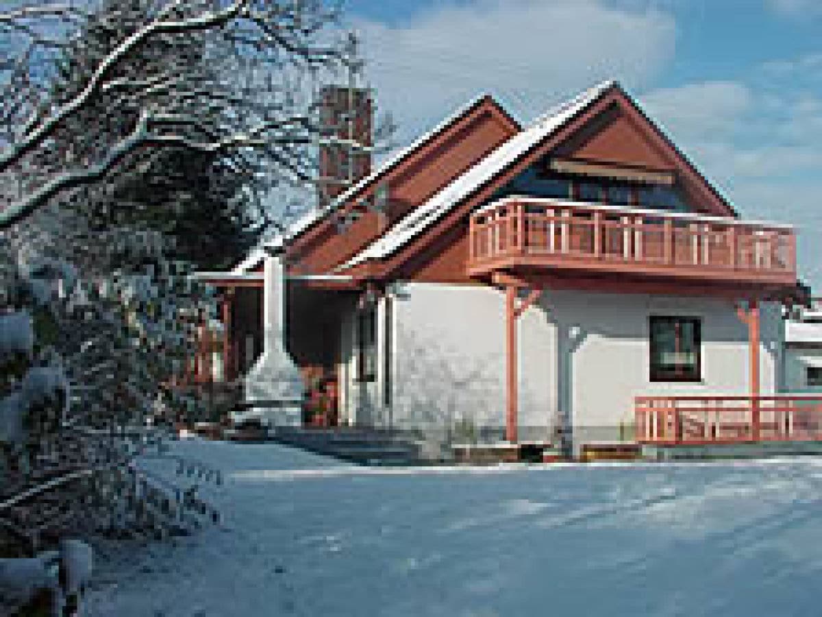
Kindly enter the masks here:
[[822, 295], [822, 0], [349, 0], [398, 141], [488, 91], [528, 121], [622, 82]]

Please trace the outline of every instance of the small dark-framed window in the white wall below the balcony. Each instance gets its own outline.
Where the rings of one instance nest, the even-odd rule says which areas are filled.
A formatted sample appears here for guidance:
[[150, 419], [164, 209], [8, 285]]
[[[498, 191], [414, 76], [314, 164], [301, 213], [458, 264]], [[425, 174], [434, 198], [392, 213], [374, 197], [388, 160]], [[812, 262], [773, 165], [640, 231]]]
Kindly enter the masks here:
[[652, 382], [698, 382], [700, 363], [700, 320], [687, 317], [650, 318], [650, 380]]

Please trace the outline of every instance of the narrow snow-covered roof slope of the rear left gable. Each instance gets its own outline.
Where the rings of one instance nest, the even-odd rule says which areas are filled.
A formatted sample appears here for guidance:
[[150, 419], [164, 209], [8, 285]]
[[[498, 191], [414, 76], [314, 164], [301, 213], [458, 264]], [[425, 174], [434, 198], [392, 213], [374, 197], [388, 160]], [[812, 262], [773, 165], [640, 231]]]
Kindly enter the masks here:
[[352, 184], [343, 193], [340, 193], [337, 197], [335, 197], [335, 199], [330, 202], [328, 206], [322, 208], [321, 210], [306, 212], [298, 218], [298, 220], [295, 220], [291, 225], [289, 225], [289, 229], [285, 232], [284, 236], [280, 235], [270, 243], [265, 243], [259, 247], [253, 248], [252, 251], [248, 253], [248, 256], [243, 259], [242, 262], [238, 263], [232, 271], [235, 273], [241, 273], [256, 267], [266, 256], [265, 249], [270, 247], [272, 243], [277, 244], [277, 246], [282, 246], [284, 239], [292, 239], [294, 236], [302, 234], [303, 231], [307, 230], [324, 216], [337, 210], [340, 206], [343, 206], [349, 201], [349, 199], [351, 199], [351, 197], [362, 191], [363, 188], [366, 188], [369, 184], [376, 182], [377, 179], [380, 179], [381, 176], [387, 174], [391, 169], [394, 169], [397, 165], [399, 165], [399, 163], [408, 158], [409, 155], [413, 154], [413, 152], [417, 151], [419, 148], [427, 144], [428, 141], [431, 141], [434, 137], [445, 131], [446, 128], [450, 127], [450, 125], [455, 123], [461, 116], [467, 114], [470, 109], [473, 109], [473, 107], [475, 107], [486, 96], [488, 95], [481, 94], [475, 96], [473, 99], [469, 100], [467, 104], [462, 105], [459, 109], [456, 109], [454, 113], [447, 116], [441, 123], [437, 124], [436, 127], [423, 133], [423, 135], [414, 140], [409, 146], [392, 152], [391, 155], [384, 160], [381, 165], [378, 165], [371, 174], [364, 176], [363, 179], [360, 179], [357, 183]]

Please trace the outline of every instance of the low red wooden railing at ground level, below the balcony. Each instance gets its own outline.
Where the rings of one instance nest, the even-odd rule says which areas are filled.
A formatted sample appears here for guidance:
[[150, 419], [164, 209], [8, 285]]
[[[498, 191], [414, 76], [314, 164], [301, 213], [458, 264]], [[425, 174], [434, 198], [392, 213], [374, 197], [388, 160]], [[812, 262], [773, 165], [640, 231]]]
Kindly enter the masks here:
[[822, 396], [637, 397], [636, 441], [822, 441]]

